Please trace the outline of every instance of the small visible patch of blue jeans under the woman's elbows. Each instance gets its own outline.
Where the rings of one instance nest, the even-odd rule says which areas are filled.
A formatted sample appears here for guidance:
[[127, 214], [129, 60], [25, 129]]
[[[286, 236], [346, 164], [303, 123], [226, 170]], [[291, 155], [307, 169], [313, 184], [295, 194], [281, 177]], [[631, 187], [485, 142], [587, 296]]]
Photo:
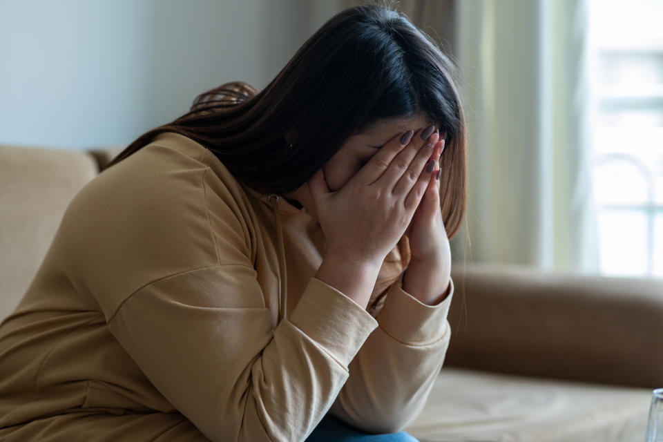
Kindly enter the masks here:
[[306, 442], [419, 442], [404, 431], [399, 433], [367, 434], [349, 427], [334, 414], [327, 413]]

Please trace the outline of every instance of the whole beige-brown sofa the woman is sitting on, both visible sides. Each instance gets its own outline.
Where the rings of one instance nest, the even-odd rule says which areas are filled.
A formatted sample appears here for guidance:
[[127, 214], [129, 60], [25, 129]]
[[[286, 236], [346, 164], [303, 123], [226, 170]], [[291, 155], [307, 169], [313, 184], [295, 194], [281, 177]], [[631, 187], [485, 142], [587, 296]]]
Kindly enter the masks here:
[[[121, 151], [0, 145], [0, 320], [68, 202]], [[455, 263], [452, 338], [420, 441], [644, 441], [663, 387], [663, 280]]]

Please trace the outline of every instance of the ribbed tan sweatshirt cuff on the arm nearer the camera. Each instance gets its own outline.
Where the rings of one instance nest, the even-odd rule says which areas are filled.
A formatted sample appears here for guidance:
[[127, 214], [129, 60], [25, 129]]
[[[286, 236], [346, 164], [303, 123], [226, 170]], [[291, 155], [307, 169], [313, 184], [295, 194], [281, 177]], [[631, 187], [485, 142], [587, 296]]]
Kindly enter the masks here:
[[354, 300], [313, 278], [288, 320], [346, 370], [378, 321]]

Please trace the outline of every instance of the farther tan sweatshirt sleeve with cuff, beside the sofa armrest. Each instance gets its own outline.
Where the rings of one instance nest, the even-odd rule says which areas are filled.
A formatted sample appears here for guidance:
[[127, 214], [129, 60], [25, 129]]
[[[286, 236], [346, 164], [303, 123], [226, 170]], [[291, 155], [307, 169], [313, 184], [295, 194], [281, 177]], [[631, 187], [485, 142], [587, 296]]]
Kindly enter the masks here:
[[402, 431], [421, 413], [450, 341], [454, 293], [425, 305], [403, 290], [403, 274], [387, 289], [378, 327], [349, 365], [330, 412], [369, 433]]

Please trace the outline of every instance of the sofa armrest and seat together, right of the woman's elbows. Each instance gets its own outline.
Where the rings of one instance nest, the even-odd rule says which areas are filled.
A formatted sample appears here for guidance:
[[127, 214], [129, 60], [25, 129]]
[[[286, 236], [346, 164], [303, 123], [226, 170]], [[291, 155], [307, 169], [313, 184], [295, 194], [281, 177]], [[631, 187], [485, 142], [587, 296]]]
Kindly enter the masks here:
[[663, 280], [476, 264], [454, 265], [452, 278], [450, 347], [408, 432], [644, 441], [651, 390], [663, 387]]

